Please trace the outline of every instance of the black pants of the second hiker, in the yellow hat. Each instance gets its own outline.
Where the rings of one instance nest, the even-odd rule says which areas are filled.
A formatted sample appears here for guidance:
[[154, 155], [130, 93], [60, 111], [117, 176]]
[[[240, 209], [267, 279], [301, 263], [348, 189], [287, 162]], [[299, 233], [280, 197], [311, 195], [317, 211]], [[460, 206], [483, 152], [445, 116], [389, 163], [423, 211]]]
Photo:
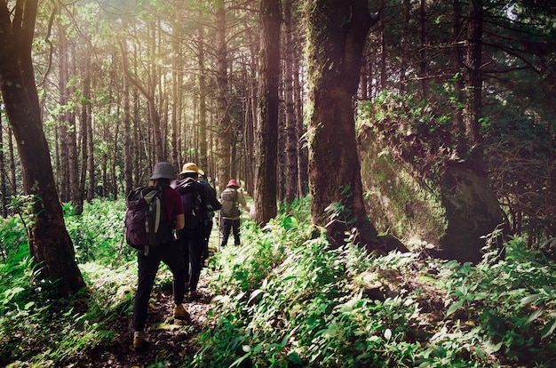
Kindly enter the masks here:
[[201, 258], [203, 256], [204, 234], [203, 226], [183, 228], [177, 232], [179, 244], [183, 247], [183, 259], [186, 263], [186, 282], [189, 281], [189, 291], [196, 292], [201, 276]]

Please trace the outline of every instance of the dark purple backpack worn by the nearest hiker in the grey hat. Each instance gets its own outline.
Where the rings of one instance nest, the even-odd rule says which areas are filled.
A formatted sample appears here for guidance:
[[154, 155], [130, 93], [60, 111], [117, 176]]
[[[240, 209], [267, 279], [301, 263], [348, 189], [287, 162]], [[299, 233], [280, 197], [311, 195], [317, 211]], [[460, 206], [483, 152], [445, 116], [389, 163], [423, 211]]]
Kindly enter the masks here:
[[166, 244], [172, 239], [170, 221], [163, 211], [164, 187], [139, 187], [125, 198], [125, 240], [135, 249]]

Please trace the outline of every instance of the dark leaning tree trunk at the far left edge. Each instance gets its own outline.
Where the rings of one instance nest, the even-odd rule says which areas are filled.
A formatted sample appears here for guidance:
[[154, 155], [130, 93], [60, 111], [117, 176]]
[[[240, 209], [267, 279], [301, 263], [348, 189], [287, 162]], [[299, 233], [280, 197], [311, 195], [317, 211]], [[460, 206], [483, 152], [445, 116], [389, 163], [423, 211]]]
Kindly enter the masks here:
[[5, 2], [0, 4], [0, 87], [20, 151], [26, 192], [36, 200], [30, 251], [42, 264], [43, 276], [58, 280], [60, 294], [68, 295], [85, 284], [64, 224], [42, 127], [31, 60], [36, 3], [19, 0], [14, 12]]

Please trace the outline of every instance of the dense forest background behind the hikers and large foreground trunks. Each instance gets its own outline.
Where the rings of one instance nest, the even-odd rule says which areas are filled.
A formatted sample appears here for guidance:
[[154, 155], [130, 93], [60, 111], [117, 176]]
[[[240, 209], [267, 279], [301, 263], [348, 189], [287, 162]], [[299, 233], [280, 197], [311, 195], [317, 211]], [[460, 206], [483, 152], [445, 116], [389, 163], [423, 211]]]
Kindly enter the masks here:
[[[256, 196], [257, 131], [265, 124], [260, 9], [256, 1], [41, 2], [32, 60], [60, 200], [79, 213], [83, 201], [117, 199], [145, 183], [161, 160], [177, 168], [195, 161], [216, 187], [239, 178]], [[284, 203], [309, 192], [314, 115], [306, 102], [314, 86], [307, 75], [318, 80], [327, 66], [304, 52], [319, 24], [313, 11], [282, 1], [279, 55], [270, 55], [280, 58], [276, 194]], [[469, 180], [469, 173], [458, 176], [465, 170], [479, 178], [473, 185], [493, 194], [467, 193], [480, 204], [465, 207], [458, 221], [496, 202], [488, 220], [481, 218], [488, 226], [480, 235], [500, 222], [507, 234], [527, 234], [529, 246], [554, 236], [554, 6], [380, 0], [369, 2], [369, 11], [352, 102], [365, 205], [377, 229], [405, 238], [410, 229], [426, 240], [437, 223], [419, 220], [408, 198], [439, 196], [441, 217], [449, 216], [458, 204], [447, 204], [445, 193]], [[24, 183], [4, 109], [0, 118], [6, 217]], [[405, 202], [402, 174], [414, 187], [402, 194]], [[388, 188], [392, 182], [396, 188]], [[435, 231], [431, 242], [442, 237]], [[450, 231], [466, 229], [444, 226]]]

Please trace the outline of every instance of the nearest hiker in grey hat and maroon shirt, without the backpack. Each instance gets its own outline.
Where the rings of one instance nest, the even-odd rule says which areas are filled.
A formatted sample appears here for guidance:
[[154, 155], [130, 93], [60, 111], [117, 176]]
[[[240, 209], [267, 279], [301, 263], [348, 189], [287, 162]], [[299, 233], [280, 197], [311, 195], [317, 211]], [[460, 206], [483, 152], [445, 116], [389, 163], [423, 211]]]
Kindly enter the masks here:
[[180, 246], [173, 236], [173, 229], [183, 228], [185, 224], [179, 193], [170, 188], [170, 182], [174, 179], [176, 179], [176, 172], [171, 164], [164, 162], [155, 164], [149, 185], [163, 187], [163, 217], [170, 223], [167, 222], [165, 227], [161, 223], [160, 231], [170, 232], [171, 234], [166, 236], [171, 240], [166, 244], [147, 248], [147, 254], [146, 250], [139, 249], [137, 251], [139, 268], [138, 285], [133, 302], [133, 348], [136, 350], [145, 347], [143, 330], [147, 321], [148, 300], [153, 290], [156, 273], [161, 261], [168, 265], [173, 276], [173, 299], [175, 304], [173, 316], [177, 319], [189, 318], [186, 309], [182, 305], [186, 292], [186, 266], [181, 257]]

